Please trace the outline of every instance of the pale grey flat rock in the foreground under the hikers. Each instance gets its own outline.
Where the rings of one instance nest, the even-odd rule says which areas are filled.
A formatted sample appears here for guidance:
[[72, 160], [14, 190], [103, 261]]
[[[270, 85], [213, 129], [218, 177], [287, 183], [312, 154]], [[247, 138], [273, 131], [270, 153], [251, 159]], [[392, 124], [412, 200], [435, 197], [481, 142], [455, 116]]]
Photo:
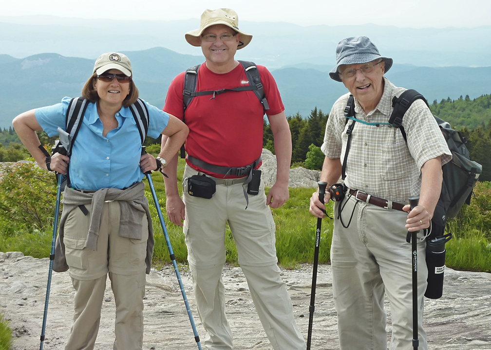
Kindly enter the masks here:
[[[0, 310], [14, 329], [13, 350], [39, 349], [49, 259], [21, 252], [0, 252]], [[191, 275], [181, 266], [181, 277], [201, 339], [205, 333], [196, 313]], [[282, 270], [291, 295], [295, 319], [307, 337], [312, 266]], [[240, 267], [225, 266], [225, 309], [234, 333], [235, 349], [271, 350], [250, 298]], [[491, 349], [491, 274], [447, 269], [443, 297], [425, 300], [425, 328], [430, 349]], [[73, 317], [74, 289], [68, 273], [54, 273], [44, 349], [62, 350]], [[147, 275], [143, 349], [197, 349], [177, 278], [171, 266]], [[390, 322], [390, 310], [385, 301]], [[332, 300], [330, 265], [320, 265], [317, 277], [312, 349], [339, 349], [336, 312]], [[390, 339], [391, 326], [387, 326]], [[109, 278], [102, 308], [96, 350], [112, 349], [114, 297]]]

